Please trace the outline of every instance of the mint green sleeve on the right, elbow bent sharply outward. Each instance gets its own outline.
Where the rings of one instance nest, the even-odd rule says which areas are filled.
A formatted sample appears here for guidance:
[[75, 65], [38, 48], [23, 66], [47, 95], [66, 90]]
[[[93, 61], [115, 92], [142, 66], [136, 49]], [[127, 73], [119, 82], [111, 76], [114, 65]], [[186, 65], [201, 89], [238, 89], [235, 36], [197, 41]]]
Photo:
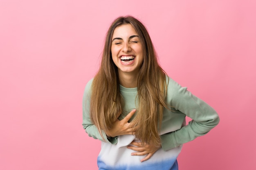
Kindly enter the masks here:
[[175, 148], [198, 136], [205, 135], [219, 123], [219, 116], [211, 106], [171, 78], [169, 78], [168, 95], [170, 95], [168, 97], [171, 106], [177, 110], [177, 114], [184, 113], [192, 120], [177, 131], [161, 135], [164, 150]]

